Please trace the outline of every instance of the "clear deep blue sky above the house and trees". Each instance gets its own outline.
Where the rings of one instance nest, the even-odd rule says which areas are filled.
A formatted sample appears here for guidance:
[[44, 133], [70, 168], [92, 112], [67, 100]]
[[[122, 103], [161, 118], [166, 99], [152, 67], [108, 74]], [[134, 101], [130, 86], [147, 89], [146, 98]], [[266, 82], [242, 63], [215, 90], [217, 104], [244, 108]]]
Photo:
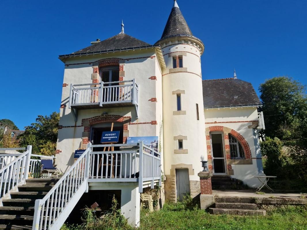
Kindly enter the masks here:
[[[307, 84], [307, 1], [178, 0], [193, 34], [205, 44], [203, 79], [239, 79], [255, 89], [288, 75]], [[68, 54], [125, 32], [160, 39], [172, 0], [0, 1], [0, 119], [23, 129], [60, 110]]]

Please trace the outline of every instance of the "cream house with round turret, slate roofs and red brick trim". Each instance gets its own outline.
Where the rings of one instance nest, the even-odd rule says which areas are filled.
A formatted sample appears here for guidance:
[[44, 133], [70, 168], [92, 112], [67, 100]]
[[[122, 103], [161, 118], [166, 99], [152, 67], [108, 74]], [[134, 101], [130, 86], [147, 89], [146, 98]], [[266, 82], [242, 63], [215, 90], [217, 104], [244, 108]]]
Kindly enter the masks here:
[[[175, 0], [162, 36], [153, 45], [126, 34], [122, 23], [119, 34], [59, 56], [65, 67], [57, 167], [65, 173], [75, 161], [74, 152], [93, 145], [101, 156], [92, 158], [91, 167], [97, 168], [92, 168], [96, 177], [92, 175], [89, 190], [121, 191], [122, 213], [135, 226], [139, 192], [153, 187], [154, 179], [140, 186], [138, 166], [132, 177], [125, 173], [117, 178], [117, 162], [133, 167], [139, 162], [137, 154], [125, 160], [121, 155], [113, 168], [103, 160], [104, 155], [109, 157], [105, 149], [97, 146], [103, 132], [119, 131], [119, 141], [111, 147], [114, 154], [126, 147], [128, 137], [159, 137], [161, 159], [150, 169], [161, 178], [161, 167], [168, 200], [206, 193], [198, 175], [204, 170], [201, 161], [207, 161], [214, 176], [228, 175], [251, 187], [258, 186], [251, 175], [263, 174], [258, 131], [264, 124], [258, 96], [235, 73], [231, 78], [202, 80], [204, 49]], [[117, 173], [108, 176], [112, 169]], [[210, 180], [209, 176], [205, 185], [211, 186]]]

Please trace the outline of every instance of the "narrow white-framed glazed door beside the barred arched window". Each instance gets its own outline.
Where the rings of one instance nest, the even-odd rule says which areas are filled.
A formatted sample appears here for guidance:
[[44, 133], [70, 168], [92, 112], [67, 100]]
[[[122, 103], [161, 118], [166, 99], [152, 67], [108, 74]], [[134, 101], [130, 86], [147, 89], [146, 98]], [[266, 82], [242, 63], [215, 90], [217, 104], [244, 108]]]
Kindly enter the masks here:
[[227, 174], [223, 133], [210, 133], [213, 174]]

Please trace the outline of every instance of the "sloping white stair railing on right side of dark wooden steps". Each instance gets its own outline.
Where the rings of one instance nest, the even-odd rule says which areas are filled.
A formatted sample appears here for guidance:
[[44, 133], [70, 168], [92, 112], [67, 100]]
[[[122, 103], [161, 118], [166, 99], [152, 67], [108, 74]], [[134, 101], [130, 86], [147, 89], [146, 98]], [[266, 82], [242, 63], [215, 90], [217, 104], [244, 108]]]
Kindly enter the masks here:
[[32, 230], [58, 230], [88, 191], [90, 148], [76, 160], [43, 199], [35, 201]]

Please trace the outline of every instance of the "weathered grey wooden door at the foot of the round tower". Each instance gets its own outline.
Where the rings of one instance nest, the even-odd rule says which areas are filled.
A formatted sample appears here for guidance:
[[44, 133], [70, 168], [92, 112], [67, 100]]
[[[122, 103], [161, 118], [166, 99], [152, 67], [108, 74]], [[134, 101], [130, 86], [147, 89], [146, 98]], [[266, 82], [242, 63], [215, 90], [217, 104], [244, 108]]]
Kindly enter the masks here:
[[190, 180], [188, 169], [176, 169], [176, 190], [177, 199], [183, 200], [183, 197], [190, 193]]

